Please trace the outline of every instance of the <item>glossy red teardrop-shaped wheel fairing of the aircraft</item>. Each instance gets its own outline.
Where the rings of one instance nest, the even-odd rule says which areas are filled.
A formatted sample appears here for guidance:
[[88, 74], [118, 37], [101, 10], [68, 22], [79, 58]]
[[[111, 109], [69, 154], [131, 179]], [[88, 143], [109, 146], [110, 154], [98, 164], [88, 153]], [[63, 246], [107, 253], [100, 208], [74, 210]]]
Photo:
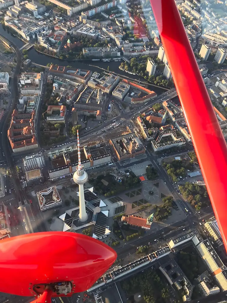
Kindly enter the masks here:
[[73, 232], [5, 239], [0, 241], [0, 291], [32, 296], [34, 285], [57, 281], [73, 281], [74, 292], [85, 291], [116, 258], [116, 252], [103, 242]]

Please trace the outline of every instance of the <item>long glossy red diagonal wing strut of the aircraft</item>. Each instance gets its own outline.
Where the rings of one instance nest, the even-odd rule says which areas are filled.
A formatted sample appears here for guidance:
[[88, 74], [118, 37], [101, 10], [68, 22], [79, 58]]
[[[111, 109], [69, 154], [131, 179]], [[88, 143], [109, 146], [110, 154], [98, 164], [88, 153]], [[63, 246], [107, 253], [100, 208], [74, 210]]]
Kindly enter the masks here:
[[150, 0], [207, 191], [227, 249], [227, 147], [174, 0]]

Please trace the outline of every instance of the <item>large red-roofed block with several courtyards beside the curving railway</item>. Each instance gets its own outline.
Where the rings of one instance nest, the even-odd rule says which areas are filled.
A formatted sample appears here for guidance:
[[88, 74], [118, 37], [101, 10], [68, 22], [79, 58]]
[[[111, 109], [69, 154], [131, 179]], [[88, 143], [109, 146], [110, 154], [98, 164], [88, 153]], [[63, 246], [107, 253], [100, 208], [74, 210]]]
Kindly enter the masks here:
[[26, 151], [38, 147], [35, 137], [35, 111], [18, 114], [14, 109], [8, 129], [8, 139], [13, 152]]

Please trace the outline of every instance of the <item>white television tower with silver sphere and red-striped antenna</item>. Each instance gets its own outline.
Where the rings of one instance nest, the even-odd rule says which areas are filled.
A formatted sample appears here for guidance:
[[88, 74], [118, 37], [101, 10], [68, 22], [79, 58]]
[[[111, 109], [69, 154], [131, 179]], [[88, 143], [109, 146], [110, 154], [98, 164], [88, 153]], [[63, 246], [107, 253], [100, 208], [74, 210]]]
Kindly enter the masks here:
[[77, 129], [77, 148], [78, 148], [78, 165], [73, 175], [73, 180], [76, 184], [79, 185], [79, 201], [80, 201], [80, 213], [79, 220], [81, 222], [87, 221], [88, 215], [86, 213], [85, 208], [85, 200], [84, 200], [84, 183], [88, 180], [88, 175], [86, 171], [84, 171], [84, 166], [81, 164], [81, 152], [80, 152], [80, 142], [79, 142], [79, 131]]

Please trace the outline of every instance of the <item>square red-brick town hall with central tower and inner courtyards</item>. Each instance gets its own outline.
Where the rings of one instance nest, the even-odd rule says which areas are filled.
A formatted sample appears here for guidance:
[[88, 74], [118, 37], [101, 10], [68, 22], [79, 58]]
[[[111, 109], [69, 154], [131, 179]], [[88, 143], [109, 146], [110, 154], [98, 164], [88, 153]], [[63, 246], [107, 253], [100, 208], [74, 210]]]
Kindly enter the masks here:
[[143, 155], [146, 152], [146, 148], [135, 133], [111, 138], [110, 145], [119, 161], [131, 159]]

